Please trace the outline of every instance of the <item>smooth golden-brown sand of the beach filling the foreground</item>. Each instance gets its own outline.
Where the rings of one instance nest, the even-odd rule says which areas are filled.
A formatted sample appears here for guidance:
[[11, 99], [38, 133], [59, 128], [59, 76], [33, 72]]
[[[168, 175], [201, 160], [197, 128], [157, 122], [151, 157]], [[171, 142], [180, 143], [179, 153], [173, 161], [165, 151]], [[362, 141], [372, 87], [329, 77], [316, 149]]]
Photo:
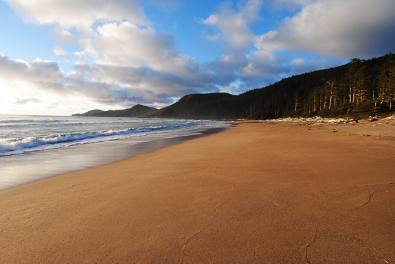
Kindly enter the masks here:
[[0, 263], [395, 263], [395, 138], [368, 127], [241, 123], [1, 191]]

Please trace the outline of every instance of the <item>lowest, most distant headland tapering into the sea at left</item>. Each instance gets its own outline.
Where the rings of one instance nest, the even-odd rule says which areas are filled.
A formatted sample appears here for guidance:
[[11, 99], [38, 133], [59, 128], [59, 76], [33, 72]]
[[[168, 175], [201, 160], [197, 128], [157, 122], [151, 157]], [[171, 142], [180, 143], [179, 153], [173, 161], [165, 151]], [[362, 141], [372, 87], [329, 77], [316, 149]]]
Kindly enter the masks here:
[[123, 109], [123, 110], [91, 110], [85, 112], [84, 114], [75, 114], [74, 116], [82, 116], [82, 117], [144, 117], [148, 113], [157, 112], [157, 108], [142, 106], [141, 104], [137, 104], [131, 108]]

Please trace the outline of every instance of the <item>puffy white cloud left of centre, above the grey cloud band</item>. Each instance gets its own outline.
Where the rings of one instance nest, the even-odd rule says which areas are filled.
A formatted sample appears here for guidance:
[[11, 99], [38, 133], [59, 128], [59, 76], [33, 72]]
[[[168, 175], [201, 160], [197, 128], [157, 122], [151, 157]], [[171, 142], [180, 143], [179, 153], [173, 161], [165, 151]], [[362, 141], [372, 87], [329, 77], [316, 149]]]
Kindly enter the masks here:
[[97, 32], [87, 50], [100, 54], [100, 58], [95, 59], [98, 64], [137, 69], [148, 66], [154, 71], [196, 77], [192, 58], [175, 49], [174, 37], [167, 32], [138, 27], [128, 21], [106, 23], [98, 27]]

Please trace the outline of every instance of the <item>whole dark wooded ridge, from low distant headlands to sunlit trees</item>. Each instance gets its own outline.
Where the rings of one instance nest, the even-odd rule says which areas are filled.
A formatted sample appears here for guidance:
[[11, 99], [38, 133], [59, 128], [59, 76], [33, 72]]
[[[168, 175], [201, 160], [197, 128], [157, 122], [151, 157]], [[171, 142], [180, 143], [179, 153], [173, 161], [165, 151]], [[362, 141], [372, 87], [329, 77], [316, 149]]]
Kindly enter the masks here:
[[[129, 115], [136, 107], [139, 115]], [[388, 115], [395, 110], [395, 55], [388, 53], [369, 60], [352, 58], [339, 67], [294, 75], [240, 95], [192, 94], [160, 110], [145, 106], [142, 111], [142, 107], [96, 110], [93, 116], [276, 119]]]

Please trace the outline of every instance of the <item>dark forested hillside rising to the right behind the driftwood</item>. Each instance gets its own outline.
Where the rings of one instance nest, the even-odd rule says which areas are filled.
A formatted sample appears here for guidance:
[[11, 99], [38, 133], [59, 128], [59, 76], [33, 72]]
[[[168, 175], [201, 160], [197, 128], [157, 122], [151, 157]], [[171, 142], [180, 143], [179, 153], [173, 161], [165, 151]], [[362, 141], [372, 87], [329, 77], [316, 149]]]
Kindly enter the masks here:
[[240, 95], [247, 119], [385, 115], [395, 110], [395, 55], [295, 75]]

